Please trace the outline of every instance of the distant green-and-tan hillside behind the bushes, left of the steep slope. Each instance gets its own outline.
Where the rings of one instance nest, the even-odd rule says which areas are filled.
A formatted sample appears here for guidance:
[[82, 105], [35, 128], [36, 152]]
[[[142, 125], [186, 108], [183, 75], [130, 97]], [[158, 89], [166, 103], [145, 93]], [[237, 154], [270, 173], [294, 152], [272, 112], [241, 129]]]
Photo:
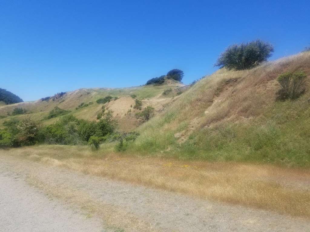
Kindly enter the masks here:
[[[58, 106], [61, 109], [70, 110], [71, 113], [77, 118], [96, 120], [96, 116], [101, 112], [102, 107], [102, 104], [96, 104], [96, 100], [106, 96], [112, 96], [119, 98], [116, 100], [116, 105], [119, 105], [119, 107], [112, 107], [112, 110], [114, 111], [114, 117], [119, 119], [120, 129], [128, 131], [134, 129], [138, 125], [132, 118], [124, 118], [125, 113], [123, 111], [125, 110], [125, 112], [127, 112], [127, 110], [131, 109], [131, 105], [134, 104], [135, 100], [130, 97], [132, 94], [136, 95], [135, 99], [143, 101], [143, 106], [153, 104], [155, 108], [158, 108], [160, 107], [160, 102], [166, 102], [165, 98], [167, 97], [162, 96], [162, 93], [166, 89], [175, 89], [181, 86], [183, 86], [183, 84], [180, 82], [166, 80], [165, 84], [162, 85], [144, 85], [131, 88], [78, 89], [76, 91], [67, 92], [62, 97], [54, 100], [50, 98], [47, 101], [42, 101], [40, 99], [37, 101], [20, 102], [11, 105], [0, 105], [0, 116], [7, 116], [8, 113], [11, 114], [14, 108], [22, 107], [23, 109], [27, 110], [27, 114], [33, 119], [42, 120], [42, 124], [47, 125], [59, 118], [56, 117], [45, 120], [49, 111], [51, 111], [55, 106]], [[129, 97], [131, 101], [127, 101], [124, 97]], [[173, 96], [169, 96], [169, 101], [171, 100], [171, 97]], [[76, 110], [78, 105], [80, 105], [82, 102], [85, 104], [93, 102], [94, 104]], [[123, 108], [121, 109], [122, 113], [118, 112], [119, 108]], [[6, 118], [0, 118], [0, 128], [2, 127], [2, 123], [9, 118], [21, 119], [23, 117], [24, 115], [15, 115]]]

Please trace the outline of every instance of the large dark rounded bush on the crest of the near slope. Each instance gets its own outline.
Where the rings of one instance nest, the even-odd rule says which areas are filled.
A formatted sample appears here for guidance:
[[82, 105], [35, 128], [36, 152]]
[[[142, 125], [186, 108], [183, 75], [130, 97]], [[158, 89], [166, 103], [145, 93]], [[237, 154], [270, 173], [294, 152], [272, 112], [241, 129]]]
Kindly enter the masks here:
[[271, 44], [261, 40], [231, 45], [219, 56], [215, 66], [228, 70], [250, 69], [266, 61], [273, 51]]

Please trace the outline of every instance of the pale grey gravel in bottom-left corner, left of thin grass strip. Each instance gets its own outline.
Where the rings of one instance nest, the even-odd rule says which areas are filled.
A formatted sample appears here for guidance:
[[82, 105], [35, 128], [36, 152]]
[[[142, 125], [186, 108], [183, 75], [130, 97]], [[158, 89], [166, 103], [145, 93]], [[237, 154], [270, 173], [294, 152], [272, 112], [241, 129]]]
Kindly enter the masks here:
[[102, 232], [99, 219], [86, 218], [29, 186], [20, 176], [0, 164], [0, 231], [3, 232]]

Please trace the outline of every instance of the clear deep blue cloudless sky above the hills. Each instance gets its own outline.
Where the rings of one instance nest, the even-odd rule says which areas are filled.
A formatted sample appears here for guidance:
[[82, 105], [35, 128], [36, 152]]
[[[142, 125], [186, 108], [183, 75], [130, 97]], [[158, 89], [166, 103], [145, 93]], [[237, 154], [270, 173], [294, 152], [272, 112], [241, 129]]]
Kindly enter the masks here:
[[271, 42], [271, 59], [310, 43], [310, 1], [0, 2], [0, 87], [24, 101], [216, 70], [230, 44]]

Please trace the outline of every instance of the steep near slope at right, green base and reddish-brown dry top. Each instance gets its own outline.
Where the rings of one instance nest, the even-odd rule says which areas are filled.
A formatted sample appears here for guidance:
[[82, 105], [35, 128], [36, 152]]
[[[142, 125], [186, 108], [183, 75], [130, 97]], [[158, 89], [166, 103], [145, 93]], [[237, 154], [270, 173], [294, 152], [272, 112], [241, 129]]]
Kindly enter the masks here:
[[276, 100], [277, 76], [298, 70], [307, 73], [309, 89], [310, 52], [251, 70], [219, 70], [138, 128], [128, 153], [310, 166], [310, 92]]

